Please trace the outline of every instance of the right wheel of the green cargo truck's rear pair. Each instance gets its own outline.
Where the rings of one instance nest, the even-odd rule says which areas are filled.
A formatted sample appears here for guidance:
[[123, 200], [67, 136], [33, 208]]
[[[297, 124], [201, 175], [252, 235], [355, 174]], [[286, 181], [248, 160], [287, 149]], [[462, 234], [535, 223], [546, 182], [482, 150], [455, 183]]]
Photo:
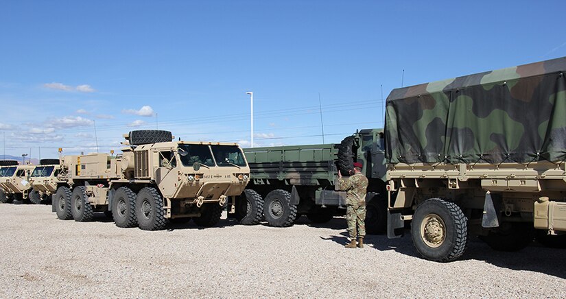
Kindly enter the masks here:
[[297, 216], [297, 206], [291, 204], [291, 193], [281, 189], [268, 193], [263, 203], [263, 214], [270, 226], [292, 226]]

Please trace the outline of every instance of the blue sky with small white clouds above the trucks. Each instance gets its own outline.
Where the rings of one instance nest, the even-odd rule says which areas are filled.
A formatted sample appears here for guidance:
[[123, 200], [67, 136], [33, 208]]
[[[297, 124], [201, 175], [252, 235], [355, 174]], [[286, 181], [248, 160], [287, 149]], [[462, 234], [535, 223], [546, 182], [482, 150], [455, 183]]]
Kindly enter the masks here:
[[322, 143], [319, 94], [325, 142], [340, 142], [382, 127], [381, 86], [387, 97], [402, 81], [566, 56], [565, 11], [565, 1], [1, 1], [5, 153], [118, 152], [122, 134], [157, 126], [248, 147], [246, 91], [256, 146]]

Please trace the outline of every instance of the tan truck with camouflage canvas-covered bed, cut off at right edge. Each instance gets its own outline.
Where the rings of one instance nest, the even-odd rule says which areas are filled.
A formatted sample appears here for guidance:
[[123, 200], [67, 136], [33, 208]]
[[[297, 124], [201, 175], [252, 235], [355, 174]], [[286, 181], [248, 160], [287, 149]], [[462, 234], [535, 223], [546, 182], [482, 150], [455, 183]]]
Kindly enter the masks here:
[[[467, 233], [564, 246], [566, 58], [394, 89], [386, 103], [388, 235], [451, 261]], [[537, 230], [533, 230], [536, 228]]]

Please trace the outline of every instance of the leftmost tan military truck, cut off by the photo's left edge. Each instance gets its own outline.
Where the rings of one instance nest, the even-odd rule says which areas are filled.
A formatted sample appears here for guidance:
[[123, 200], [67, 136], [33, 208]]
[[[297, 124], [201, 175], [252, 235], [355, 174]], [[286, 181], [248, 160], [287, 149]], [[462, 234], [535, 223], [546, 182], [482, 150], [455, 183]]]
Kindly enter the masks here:
[[23, 204], [32, 187], [30, 175], [35, 165], [18, 165], [15, 160], [3, 160], [0, 165], [0, 202]]

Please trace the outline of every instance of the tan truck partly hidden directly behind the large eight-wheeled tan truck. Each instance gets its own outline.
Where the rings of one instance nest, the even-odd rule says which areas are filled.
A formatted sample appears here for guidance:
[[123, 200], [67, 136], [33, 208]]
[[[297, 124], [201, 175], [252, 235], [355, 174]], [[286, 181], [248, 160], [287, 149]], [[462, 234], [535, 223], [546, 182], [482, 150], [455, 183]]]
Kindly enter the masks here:
[[33, 204], [48, 204], [51, 195], [57, 191], [58, 174], [61, 169], [59, 159], [41, 159], [30, 176], [30, 202]]

